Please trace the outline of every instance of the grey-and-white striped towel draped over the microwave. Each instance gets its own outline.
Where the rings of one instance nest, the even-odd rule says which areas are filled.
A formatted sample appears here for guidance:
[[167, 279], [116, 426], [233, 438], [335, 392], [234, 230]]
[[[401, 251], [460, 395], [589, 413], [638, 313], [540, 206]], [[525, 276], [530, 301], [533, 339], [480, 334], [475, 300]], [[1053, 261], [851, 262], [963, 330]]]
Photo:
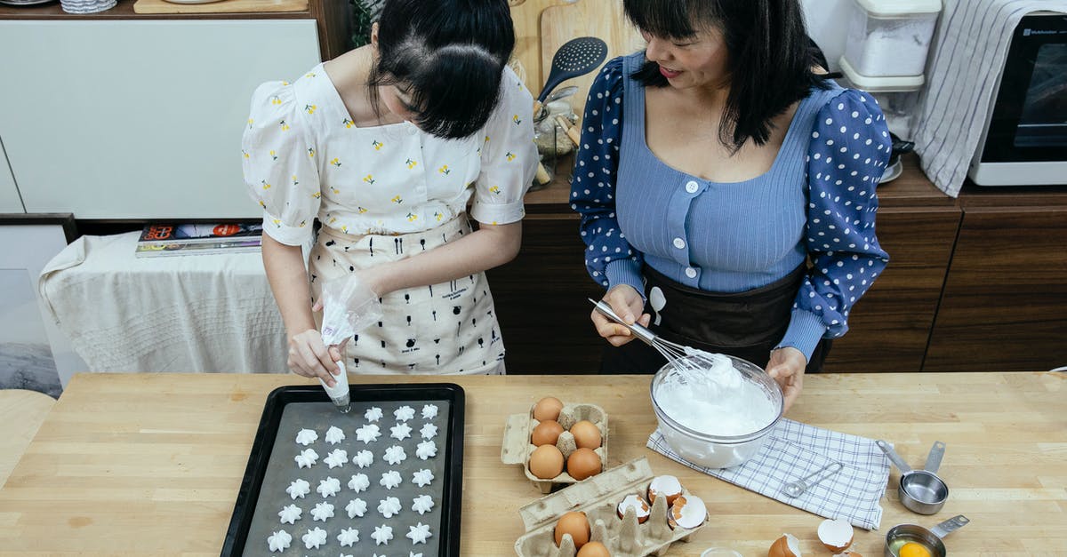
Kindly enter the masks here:
[[997, 76], [1022, 16], [1038, 10], [1067, 13], [1067, 0], [942, 0], [926, 64], [926, 85], [908, 94], [923, 171], [955, 197], [982, 138]]

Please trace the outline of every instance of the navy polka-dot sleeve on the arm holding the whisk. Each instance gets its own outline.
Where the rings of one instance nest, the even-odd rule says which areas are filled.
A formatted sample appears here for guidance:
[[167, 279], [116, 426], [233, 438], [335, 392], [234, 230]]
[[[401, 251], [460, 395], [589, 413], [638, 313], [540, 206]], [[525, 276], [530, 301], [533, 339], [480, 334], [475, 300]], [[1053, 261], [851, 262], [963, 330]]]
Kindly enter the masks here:
[[619, 229], [615, 184], [622, 139], [622, 59], [604, 65], [589, 89], [582, 144], [574, 158], [571, 208], [582, 217], [586, 269], [606, 288], [628, 284], [643, 292], [641, 257]]

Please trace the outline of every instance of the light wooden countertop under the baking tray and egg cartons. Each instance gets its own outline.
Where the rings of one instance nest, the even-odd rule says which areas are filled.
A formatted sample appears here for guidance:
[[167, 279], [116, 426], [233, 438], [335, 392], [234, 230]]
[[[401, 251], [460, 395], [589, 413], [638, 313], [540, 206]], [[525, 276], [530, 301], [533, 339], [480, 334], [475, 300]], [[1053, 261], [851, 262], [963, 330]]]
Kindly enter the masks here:
[[[669, 555], [711, 545], [766, 555], [783, 531], [825, 555], [822, 519], [704, 476], [644, 448], [655, 427], [648, 377], [414, 377], [466, 391], [463, 555], [513, 555], [517, 509], [540, 496], [500, 463], [509, 414], [542, 396], [594, 402], [608, 413], [609, 465], [644, 456], [708, 502], [712, 522]], [[1067, 376], [1064, 373], [822, 375], [806, 380], [790, 417], [881, 437], [920, 465], [936, 440], [952, 495], [938, 514], [899, 505], [894, 471], [880, 531], [853, 548], [880, 555], [899, 523], [927, 527], [956, 514], [971, 524], [945, 541], [955, 555], [1062, 554], [1067, 547]], [[395, 381], [355, 377], [353, 383]], [[218, 555], [267, 394], [304, 383], [268, 375], [78, 375], [0, 490], [0, 554]]]

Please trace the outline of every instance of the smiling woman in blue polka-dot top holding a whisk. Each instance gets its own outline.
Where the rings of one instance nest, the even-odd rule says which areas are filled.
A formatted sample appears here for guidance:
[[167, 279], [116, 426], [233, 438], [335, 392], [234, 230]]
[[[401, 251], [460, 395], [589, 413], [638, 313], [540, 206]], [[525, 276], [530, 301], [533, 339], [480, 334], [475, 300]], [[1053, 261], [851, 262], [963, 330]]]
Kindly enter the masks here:
[[[789, 408], [889, 256], [874, 98], [821, 76], [797, 0], [624, 0], [644, 51], [590, 89], [572, 180], [586, 265], [627, 322], [764, 366]], [[593, 312], [603, 372], [663, 359]]]

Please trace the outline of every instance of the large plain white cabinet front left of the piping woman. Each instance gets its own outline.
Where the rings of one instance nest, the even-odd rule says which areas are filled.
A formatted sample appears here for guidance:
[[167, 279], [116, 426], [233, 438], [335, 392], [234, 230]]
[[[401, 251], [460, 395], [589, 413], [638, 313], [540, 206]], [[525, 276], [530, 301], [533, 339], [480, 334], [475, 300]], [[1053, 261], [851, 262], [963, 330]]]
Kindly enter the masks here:
[[0, 20], [0, 52], [26, 210], [79, 219], [259, 216], [241, 179], [249, 99], [319, 62], [314, 19]]

